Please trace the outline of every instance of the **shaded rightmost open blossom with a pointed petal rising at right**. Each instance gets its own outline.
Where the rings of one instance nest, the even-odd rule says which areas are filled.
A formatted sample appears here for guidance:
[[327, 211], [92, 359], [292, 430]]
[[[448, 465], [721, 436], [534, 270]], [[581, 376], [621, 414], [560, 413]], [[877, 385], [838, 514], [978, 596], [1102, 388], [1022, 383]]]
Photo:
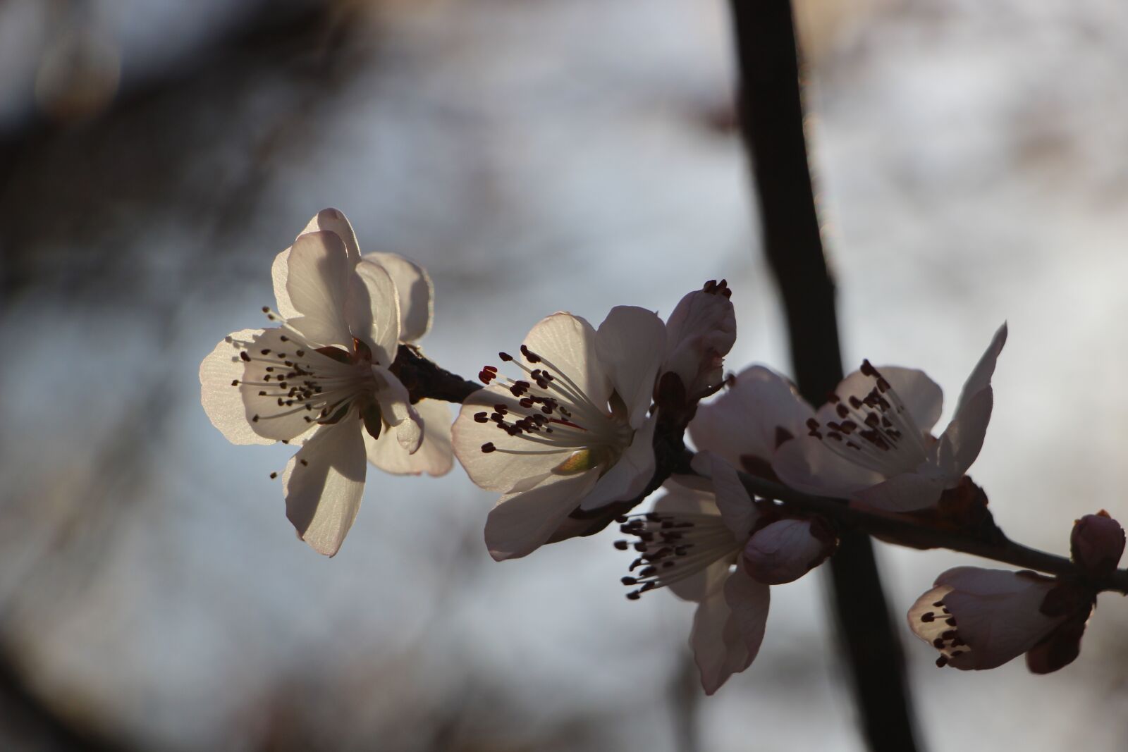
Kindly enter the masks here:
[[940, 418], [940, 387], [923, 371], [876, 369], [865, 361], [808, 418], [807, 433], [776, 450], [772, 468], [792, 488], [818, 496], [892, 512], [933, 506], [979, 455], [994, 402], [990, 379], [1005, 342], [1004, 324], [938, 439], [929, 432]]

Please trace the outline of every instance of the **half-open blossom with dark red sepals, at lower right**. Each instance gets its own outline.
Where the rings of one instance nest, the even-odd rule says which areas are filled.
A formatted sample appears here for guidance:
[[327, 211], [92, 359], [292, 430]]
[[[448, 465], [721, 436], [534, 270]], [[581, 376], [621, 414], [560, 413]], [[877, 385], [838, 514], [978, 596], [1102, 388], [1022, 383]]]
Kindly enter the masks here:
[[1033, 572], [957, 567], [909, 609], [909, 628], [940, 651], [937, 666], [995, 669], [1026, 653], [1034, 673], [1072, 662], [1094, 594]]

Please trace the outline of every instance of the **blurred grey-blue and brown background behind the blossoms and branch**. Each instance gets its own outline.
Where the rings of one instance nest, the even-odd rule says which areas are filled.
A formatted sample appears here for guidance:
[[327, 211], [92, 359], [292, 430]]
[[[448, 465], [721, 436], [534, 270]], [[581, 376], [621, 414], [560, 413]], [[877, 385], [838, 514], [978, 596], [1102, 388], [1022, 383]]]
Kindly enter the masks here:
[[[848, 361], [954, 401], [1007, 319], [996, 519], [1065, 552], [1081, 514], [1128, 517], [1128, 6], [796, 12]], [[818, 574], [704, 698], [693, 607], [626, 601], [614, 532], [494, 564], [491, 494], [372, 470], [325, 559], [268, 479], [292, 450], [199, 402], [329, 205], [430, 269], [451, 370], [723, 276], [730, 365], [786, 371], [732, 68], [720, 0], [0, 3], [0, 747], [861, 750]], [[879, 555], [899, 611], [975, 563]], [[904, 630], [927, 749], [1125, 749], [1126, 626], [1102, 596], [1043, 678], [936, 670]]]

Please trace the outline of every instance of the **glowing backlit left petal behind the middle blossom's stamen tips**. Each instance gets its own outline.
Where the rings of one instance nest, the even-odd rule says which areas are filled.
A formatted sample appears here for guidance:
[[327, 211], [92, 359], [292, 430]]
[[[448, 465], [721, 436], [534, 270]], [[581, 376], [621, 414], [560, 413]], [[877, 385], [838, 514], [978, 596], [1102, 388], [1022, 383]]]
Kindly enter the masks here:
[[[455, 457], [476, 485], [487, 490], [510, 492], [526, 478], [547, 475], [572, 454], [569, 449], [547, 454], [527, 453], [530, 449], [540, 451], [546, 448], [530, 445], [521, 435], [510, 435], [492, 421], [479, 423], [475, 419], [475, 415], [492, 415], [496, 405], [506, 405], [515, 410], [517, 398], [508, 387], [499, 383], [479, 389], [462, 402], [451, 427]], [[486, 444], [495, 446], [495, 451], [482, 451]]]

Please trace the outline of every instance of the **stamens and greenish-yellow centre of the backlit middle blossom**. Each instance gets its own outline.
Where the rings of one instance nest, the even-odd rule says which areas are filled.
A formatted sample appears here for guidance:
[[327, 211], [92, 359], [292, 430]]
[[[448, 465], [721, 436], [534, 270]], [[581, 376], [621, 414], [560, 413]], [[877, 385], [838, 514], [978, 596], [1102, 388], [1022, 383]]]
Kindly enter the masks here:
[[[514, 363], [526, 379], [500, 377], [497, 369], [486, 365], [478, 373], [484, 383], [501, 379], [509, 386], [512, 399], [493, 406], [493, 412], [476, 413], [478, 423], [493, 423], [509, 436], [528, 442], [523, 446], [482, 444], [483, 452], [508, 454], [561, 454], [556, 472], [583, 472], [596, 467], [609, 468], [631, 444], [634, 431], [627, 424], [626, 409], [618, 395], [611, 395], [613, 407], [596, 405], [583, 389], [556, 365], [521, 345], [526, 365], [508, 353], [502, 361]], [[531, 368], [537, 365], [538, 368]]]

